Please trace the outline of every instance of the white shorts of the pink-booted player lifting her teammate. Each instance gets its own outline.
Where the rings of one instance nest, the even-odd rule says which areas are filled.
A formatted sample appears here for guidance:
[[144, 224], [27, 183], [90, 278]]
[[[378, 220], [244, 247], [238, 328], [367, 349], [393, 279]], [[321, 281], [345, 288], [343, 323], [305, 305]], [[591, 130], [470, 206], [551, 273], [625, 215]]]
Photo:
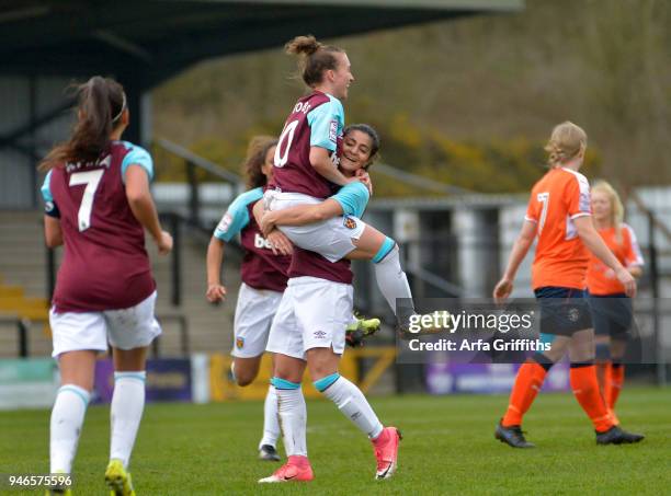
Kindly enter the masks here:
[[333, 353], [342, 355], [352, 304], [352, 285], [317, 277], [289, 279], [271, 325], [266, 350], [302, 360], [312, 348], [333, 348]]

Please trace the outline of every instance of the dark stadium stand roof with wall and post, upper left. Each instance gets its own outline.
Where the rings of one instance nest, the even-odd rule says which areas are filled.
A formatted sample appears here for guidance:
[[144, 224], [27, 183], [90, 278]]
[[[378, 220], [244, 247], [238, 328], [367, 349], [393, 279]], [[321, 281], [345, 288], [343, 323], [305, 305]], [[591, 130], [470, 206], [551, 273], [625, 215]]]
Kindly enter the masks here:
[[62, 139], [68, 81], [93, 74], [121, 81], [130, 108], [124, 137], [146, 142], [151, 126], [143, 95], [198, 61], [280, 47], [298, 34], [329, 38], [523, 7], [524, 0], [3, 0], [0, 208], [36, 205], [34, 163], [45, 143]]

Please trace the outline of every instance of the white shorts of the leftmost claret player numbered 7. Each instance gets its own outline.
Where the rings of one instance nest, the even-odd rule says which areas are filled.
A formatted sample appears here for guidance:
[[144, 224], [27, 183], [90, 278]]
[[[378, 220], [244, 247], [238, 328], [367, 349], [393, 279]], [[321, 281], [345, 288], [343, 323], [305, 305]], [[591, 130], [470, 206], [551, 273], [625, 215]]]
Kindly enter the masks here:
[[107, 350], [107, 339], [120, 349], [149, 346], [161, 334], [161, 326], [153, 316], [156, 291], [135, 307], [102, 312], [49, 311], [54, 358], [66, 351], [93, 349]]

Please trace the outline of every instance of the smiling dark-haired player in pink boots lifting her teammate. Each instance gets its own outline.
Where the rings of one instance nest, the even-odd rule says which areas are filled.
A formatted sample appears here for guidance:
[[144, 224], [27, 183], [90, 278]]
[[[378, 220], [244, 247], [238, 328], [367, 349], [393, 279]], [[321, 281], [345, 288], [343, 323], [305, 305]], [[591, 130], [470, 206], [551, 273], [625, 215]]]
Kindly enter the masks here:
[[[345, 176], [352, 176], [371, 163], [377, 149], [376, 136], [367, 126], [346, 129], [343, 157], [348, 159], [341, 161]], [[348, 150], [353, 143], [359, 145]], [[363, 200], [361, 195], [353, 194], [346, 186], [320, 205], [276, 212], [276, 219], [296, 215], [299, 221], [314, 221], [315, 217], [342, 216], [348, 209], [361, 216], [368, 192], [361, 183], [351, 186], [365, 192]], [[257, 214], [261, 209], [258, 206]], [[333, 401], [372, 440], [377, 460], [376, 477], [390, 477], [396, 470], [400, 434], [395, 427], [384, 428], [359, 388], [338, 373], [344, 349], [342, 328], [351, 319], [351, 282], [349, 261], [332, 263], [316, 252], [299, 247], [294, 250], [288, 287], [273, 321], [268, 344], [268, 350], [275, 354], [272, 383], [280, 397], [280, 418], [288, 462], [260, 482], [314, 478], [307, 459], [306, 407], [300, 390], [306, 365], [317, 390]]]

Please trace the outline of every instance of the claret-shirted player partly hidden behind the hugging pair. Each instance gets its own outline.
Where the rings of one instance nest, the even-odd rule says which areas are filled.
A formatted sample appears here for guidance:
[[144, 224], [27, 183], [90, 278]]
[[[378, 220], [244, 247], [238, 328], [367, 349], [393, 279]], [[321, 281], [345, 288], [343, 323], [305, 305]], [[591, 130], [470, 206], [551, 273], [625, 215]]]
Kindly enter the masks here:
[[[244, 160], [249, 191], [238, 196], [228, 207], [207, 249], [206, 298], [213, 303], [226, 297], [226, 287], [220, 278], [224, 243], [240, 233], [244, 249], [231, 354], [234, 376], [239, 385], [250, 384], [259, 373], [270, 324], [286, 289], [286, 274], [292, 261], [292, 244], [284, 234], [275, 230], [264, 238], [251, 215], [253, 206], [263, 197], [272, 175], [276, 145], [277, 140], [268, 136], [258, 136], [251, 140]], [[275, 251], [278, 253], [275, 254]], [[265, 396], [263, 437], [259, 443], [259, 457], [262, 460], [280, 460], [275, 449], [278, 437], [277, 395], [271, 384]]]

